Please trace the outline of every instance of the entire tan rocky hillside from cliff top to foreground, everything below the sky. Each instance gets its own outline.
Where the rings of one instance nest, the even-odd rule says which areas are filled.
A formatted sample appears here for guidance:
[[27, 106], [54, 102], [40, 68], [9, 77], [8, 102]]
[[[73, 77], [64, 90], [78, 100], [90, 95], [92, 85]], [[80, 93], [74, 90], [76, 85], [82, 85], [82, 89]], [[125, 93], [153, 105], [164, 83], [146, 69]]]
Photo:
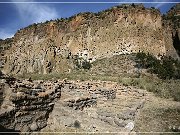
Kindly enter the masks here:
[[[179, 78], [161, 79], [137, 59], [179, 59], [179, 9], [162, 15], [120, 5], [0, 40], [0, 134], [180, 132]], [[179, 75], [178, 61], [158, 65], [152, 55], [144, 63]], [[91, 62], [90, 70], [76, 70], [82, 62]]]

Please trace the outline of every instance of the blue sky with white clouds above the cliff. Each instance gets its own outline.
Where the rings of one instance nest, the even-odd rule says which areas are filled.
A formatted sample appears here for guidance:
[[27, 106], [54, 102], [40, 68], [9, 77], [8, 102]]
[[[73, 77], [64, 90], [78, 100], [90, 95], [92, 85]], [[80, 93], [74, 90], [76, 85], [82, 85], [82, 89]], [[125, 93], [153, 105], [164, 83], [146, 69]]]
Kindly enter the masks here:
[[[145, 0], [146, 7], [159, 8], [166, 13], [179, 0]], [[4, 3], [6, 2], [6, 3]], [[9, 3], [8, 3], [9, 2]], [[18, 2], [18, 3], [17, 3]], [[26, 3], [27, 2], [27, 3]], [[31, 3], [28, 3], [31, 2]], [[41, 3], [36, 3], [41, 2]], [[48, 2], [48, 3], [43, 3]], [[112, 3], [49, 3], [49, 2], [112, 2]], [[116, 2], [116, 3], [113, 3]], [[0, 38], [12, 37], [15, 32], [32, 23], [50, 19], [70, 17], [79, 12], [98, 12], [121, 2], [143, 2], [143, 0], [0, 0]], [[166, 3], [152, 3], [166, 2]]]

